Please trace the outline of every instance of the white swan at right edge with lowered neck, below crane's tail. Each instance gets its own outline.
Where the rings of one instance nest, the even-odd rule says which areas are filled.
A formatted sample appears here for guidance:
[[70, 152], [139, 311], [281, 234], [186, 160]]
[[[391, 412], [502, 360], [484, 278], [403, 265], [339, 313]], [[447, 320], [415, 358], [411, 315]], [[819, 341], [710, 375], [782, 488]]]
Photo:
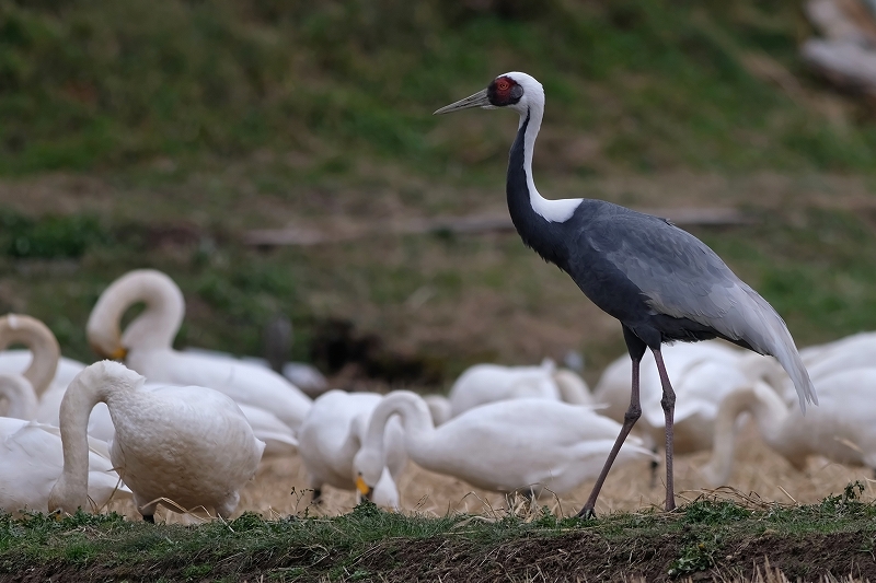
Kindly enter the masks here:
[[763, 441], [803, 470], [806, 457], [822, 455], [840, 464], [876, 468], [876, 369], [852, 369], [812, 380], [818, 407], [804, 417], [772, 387], [757, 381], [722, 404], [715, 422], [712, 459], [701, 468], [713, 486], [733, 470], [737, 418], [753, 416]]

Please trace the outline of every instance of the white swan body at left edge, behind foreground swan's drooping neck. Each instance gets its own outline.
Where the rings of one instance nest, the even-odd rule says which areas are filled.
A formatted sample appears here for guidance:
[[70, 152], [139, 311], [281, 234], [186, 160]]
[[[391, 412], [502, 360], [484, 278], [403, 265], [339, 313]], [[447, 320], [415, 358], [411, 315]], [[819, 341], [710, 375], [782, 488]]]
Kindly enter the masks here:
[[[88, 499], [96, 508], [115, 498], [129, 498], [113, 470], [106, 444], [88, 440]], [[0, 417], [0, 510], [45, 512], [51, 487], [64, 467], [60, 430], [56, 427]], [[90, 509], [88, 500], [83, 508]]]

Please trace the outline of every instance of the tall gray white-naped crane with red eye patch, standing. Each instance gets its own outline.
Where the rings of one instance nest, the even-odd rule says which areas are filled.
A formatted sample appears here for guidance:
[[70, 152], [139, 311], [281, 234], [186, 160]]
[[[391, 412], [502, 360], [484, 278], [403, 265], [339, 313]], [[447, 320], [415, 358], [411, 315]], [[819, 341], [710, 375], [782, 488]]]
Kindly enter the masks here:
[[666, 419], [666, 510], [676, 508], [672, 486], [672, 413], [676, 395], [660, 346], [676, 340], [724, 338], [772, 354], [787, 371], [799, 397], [818, 404], [794, 339], [773, 307], [742, 282], [703, 242], [658, 217], [604, 200], [549, 200], [535, 189], [532, 153], [544, 115], [544, 90], [534, 78], [510, 72], [485, 90], [441, 107], [507, 107], [520, 115], [508, 160], [511, 221], [523, 243], [568, 273], [597, 306], [618, 318], [633, 361], [630, 408], [579, 516], [593, 509], [606, 476], [633, 424], [642, 416], [638, 371], [646, 349], [654, 353]]

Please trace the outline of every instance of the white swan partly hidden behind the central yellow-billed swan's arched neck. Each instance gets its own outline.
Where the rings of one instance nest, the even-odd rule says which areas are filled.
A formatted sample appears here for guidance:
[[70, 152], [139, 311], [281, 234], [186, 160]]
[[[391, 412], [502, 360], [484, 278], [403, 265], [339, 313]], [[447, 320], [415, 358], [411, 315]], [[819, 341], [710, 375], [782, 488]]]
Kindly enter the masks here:
[[[318, 501], [325, 483], [356, 490], [353, 458], [361, 447], [368, 421], [383, 399], [377, 393], [330, 390], [313, 401], [301, 424], [299, 453], [308, 471], [313, 500]], [[407, 463], [404, 431], [390, 422], [385, 434], [387, 466], [374, 485], [371, 500], [381, 506], [399, 508], [395, 480]]]

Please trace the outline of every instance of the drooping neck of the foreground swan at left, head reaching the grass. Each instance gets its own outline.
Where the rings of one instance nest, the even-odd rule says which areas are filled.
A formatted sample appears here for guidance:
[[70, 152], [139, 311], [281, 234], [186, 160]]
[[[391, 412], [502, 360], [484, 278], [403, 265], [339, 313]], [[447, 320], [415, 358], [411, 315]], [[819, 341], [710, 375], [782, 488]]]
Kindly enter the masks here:
[[112, 390], [104, 383], [88, 382], [84, 377], [83, 373], [77, 375], [61, 400], [64, 470], [49, 494], [49, 512], [88, 510], [89, 415], [95, 405], [106, 403]]

